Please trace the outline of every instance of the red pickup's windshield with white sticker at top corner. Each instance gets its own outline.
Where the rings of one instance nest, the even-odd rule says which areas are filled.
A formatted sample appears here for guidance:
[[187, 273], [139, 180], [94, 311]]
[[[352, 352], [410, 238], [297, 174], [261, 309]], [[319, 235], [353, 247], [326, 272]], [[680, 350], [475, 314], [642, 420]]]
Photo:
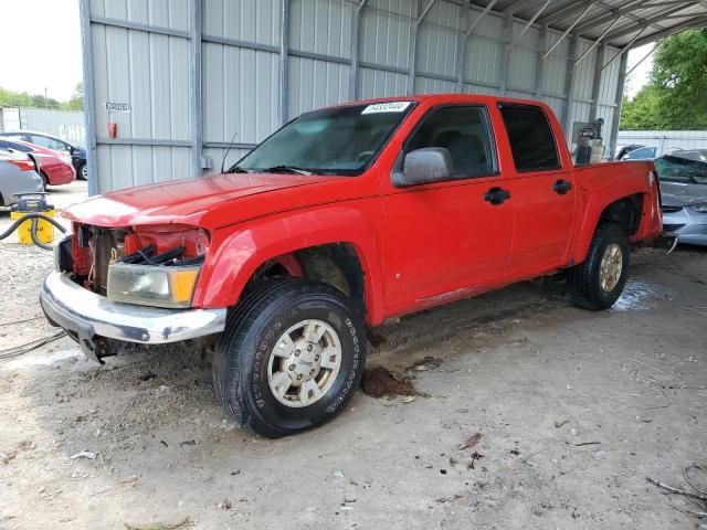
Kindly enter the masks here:
[[412, 102], [388, 102], [303, 114], [229, 171], [296, 169], [318, 174], [360, 174], [412, 107]]

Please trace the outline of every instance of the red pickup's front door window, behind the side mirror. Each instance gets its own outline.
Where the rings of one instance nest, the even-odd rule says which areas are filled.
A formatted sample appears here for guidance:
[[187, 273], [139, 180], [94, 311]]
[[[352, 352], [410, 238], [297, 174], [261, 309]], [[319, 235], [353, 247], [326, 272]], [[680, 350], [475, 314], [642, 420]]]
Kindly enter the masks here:
[[425, 147], [442, 147], [452, 157], [452, 178], [497, 174], [496, 144], [486, 107], [450, 105], [432, 109], [422, 118], [404, 145], [405, 153]]

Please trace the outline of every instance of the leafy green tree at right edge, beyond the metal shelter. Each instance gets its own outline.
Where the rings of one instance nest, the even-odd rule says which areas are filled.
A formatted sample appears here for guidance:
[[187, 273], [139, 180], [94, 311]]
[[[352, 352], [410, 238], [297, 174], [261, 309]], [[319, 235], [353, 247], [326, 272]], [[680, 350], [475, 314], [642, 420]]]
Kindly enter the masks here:
[[624, 98], [622, 129], [707, 129], [707, 30], [661, 43], [648, 83]]

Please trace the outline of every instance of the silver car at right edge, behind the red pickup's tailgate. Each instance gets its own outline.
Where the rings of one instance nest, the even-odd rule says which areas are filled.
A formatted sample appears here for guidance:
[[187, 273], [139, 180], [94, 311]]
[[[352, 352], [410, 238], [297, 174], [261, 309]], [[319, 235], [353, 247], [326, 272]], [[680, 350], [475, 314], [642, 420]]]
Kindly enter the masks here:
[[707, 149], [675, 151], [654, 160], [661, 179], [663, 229], [678, 243], [707, 245]]

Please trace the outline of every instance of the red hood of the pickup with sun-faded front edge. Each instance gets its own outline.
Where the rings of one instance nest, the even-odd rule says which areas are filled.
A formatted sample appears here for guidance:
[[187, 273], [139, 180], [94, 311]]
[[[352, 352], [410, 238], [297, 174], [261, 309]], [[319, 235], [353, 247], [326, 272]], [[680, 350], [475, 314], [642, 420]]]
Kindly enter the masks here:
[[[295, 190], [337, 177], [282, 173], [226, 173], [141, 186], [96, 195], [74, 204], [64, 218], [98, 226], [183, 223], [199, 225], [214, 206], [261, 193]], [[297, 194], [299, 195], [299, 194]], [[296, 206], [296, 204], [295, 204]], [[230, 209], [232, 221], [239, 209]], [[243, 212], [246, 215], [246, 212]]]

